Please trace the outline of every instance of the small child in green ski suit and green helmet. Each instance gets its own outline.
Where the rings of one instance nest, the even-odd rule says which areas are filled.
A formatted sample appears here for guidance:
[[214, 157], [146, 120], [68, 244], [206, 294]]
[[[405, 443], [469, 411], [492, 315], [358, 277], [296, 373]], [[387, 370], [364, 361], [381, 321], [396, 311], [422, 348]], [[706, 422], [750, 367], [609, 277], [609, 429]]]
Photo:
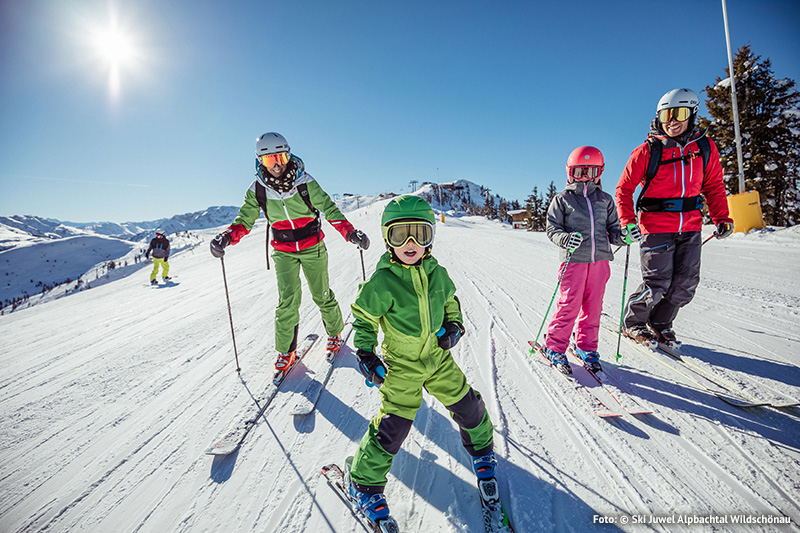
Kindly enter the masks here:
[[[492, 422], [450, 352], [464, 327], [456, 287], [431, 256], [435, 224], [425, 200], [393, 198], [381, 219], [388, 251], [352, 305], [358, 368], [382, 384], [380, 410], [348, 468], [350, 495], [373, 522], [392, 520], [383, 495], [386, 475], [422, 406], [423, 388], [458, 424], [481, 490], [497, 495]], [[378, 328], [384, 360], [375, 355]]]

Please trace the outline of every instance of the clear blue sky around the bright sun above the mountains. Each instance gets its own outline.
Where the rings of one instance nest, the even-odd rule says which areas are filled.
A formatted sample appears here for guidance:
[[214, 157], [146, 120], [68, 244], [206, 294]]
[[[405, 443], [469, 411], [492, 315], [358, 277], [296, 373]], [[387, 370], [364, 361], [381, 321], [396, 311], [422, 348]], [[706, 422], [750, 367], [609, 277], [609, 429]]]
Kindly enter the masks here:
[[[800, 2], [728, 13], [734, 53], [800, 80]], [[110, 21], [131, 51], [116, 90]], [[610, 191], [661, 95], [702, 100], [727, 61], [712, 0], [0, 2], [0, 215], [240, 205], [266, 131], [331, 195], [468, 179], [524, 200], [585, 144]]]

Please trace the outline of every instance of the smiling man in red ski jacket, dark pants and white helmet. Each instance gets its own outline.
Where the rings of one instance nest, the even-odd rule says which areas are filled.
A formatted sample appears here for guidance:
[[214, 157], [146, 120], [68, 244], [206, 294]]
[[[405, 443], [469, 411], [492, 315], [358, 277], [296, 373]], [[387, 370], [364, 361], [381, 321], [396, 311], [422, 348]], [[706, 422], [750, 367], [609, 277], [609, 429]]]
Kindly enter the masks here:
[[[699, 105], [690, 89], [662, 96], [648, 142], [633, 151], [617, 184], [621, 226], [630, 235], [638, 236], [640, 230], [643, 236], [643, 281], [628, 300], [624, 333], [651, 347], [658, 342], [680, 345], [672, 323], [700, 282], [703, 205], [708, 205], [718, 239], [733, 232], [719, 151], [705, 131], [695, 130]], [[651, 151], [657, 155], [659, 147], [658, 166], [647, 180]], [[638, 186], [643, 189], [634, 204]]]

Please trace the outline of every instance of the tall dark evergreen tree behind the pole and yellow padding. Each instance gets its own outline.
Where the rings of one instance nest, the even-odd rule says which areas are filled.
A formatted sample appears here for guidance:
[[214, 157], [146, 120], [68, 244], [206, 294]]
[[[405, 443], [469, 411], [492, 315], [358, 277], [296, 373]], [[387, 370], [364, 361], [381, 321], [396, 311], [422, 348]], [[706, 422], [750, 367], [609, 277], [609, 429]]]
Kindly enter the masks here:
[[[744, 159], [745, 188], [757, 190], [767, 224], [800, 222], [800, 94], [795, 82], [775, 79], [769, 59], [761, 61], [749, 45], [741, 47], [733, 62], [736, 101]], [[706, 87], [706, 107], [711, 120], [700, 118], [717, 143], [725, 185], [739, 191], [739, 169], [730, 91], [730, 72]]]

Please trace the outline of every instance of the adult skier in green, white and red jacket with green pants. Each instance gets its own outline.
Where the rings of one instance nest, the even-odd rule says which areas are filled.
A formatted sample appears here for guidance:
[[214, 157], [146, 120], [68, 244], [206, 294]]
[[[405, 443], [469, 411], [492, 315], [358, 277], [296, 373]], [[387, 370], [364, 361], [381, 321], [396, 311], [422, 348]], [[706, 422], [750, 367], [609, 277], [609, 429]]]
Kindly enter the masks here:
[[326, 357], [332, 360], [342, 345], [344, 321], [328, 279], [328, 252], [320, 212], [351, 243], [366, 250], [367, 235], [353, 227], [330, 196], [305, 171], [303, 161], [291, 153], [283, 135], [268, 132], [256, 141], [256, 179], [244, 196], [244, 205], [228, 229], [211, 241], [211, 254], [222, 257], [225, 247], [250, 233], [264, 211], [272, 226], [272, 259], [278, 279], [275, 309], [275, 381], [294, 364], [300, 323], [302, 286], [300, 269], [311, 298], [319, 307], [328, 334]]

